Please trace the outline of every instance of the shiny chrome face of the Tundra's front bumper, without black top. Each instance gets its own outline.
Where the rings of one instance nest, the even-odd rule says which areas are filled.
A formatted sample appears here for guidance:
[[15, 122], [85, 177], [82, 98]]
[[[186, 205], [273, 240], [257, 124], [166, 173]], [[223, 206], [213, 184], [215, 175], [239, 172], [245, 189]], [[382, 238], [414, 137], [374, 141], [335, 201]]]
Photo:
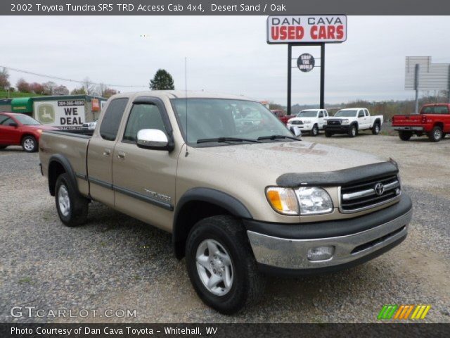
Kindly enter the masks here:
[[[390, 222], [342, 237], [284, 239], [248, 231], [248, 239], [258, 263], [286, 269], [326, 268], [356, 261], [406, 236], [412, 209]], [[335, 246], [326, 261], [309, 261], [307, 252], [317, 246]]]

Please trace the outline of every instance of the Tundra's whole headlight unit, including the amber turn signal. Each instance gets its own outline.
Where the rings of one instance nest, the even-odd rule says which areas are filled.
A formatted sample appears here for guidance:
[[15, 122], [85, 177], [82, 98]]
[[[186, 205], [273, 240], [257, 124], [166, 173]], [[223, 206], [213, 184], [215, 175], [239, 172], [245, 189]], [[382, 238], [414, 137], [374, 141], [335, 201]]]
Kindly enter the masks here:
[[333, 211], [333, 201], [328, 192], [318, 187], [266, 189], [269, 204], [283, 215], [316, 215]]

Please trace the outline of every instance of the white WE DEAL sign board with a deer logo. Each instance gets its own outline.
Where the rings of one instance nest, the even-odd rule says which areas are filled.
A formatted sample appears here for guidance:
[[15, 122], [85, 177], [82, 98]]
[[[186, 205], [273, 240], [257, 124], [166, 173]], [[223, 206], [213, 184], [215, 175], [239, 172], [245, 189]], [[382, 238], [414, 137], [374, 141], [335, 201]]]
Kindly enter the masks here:
[[84, 123], [84, 100], [34, 101], [34, 118], [43, 125], [80, 129]]

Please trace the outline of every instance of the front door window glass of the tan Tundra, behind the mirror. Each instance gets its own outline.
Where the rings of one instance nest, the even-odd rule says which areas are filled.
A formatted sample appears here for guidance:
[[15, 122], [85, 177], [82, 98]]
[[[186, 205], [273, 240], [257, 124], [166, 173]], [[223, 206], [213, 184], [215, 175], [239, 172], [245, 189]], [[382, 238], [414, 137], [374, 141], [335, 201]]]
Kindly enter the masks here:
[[135, 104], [129, 113], [124, 141], [136, 142], [139, 130], [158, 129], [166, 133], [160, 108], [155, 104]]

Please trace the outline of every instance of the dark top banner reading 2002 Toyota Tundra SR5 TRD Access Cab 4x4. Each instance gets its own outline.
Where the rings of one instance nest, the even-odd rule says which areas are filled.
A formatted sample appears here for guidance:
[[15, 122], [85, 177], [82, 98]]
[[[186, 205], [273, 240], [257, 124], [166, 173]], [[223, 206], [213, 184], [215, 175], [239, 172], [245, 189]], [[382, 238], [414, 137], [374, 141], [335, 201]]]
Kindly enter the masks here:
[[[442, 0], [11, 0], [0, 1], [0, 15], [449, 15]], [[420, 24], [420, 23], [418, 23]]]

